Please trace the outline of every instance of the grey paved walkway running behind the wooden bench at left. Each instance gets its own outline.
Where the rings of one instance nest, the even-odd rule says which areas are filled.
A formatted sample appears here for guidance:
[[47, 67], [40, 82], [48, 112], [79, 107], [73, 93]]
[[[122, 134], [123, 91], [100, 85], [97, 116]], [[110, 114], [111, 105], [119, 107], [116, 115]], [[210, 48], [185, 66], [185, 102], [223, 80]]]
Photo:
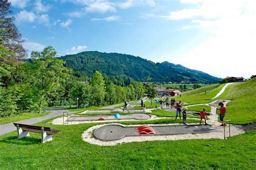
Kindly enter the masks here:
[[[37, 118], [16, 121], [16, 123], [33, 125], [33, 124], [39, 123], [39, 122], [47, 120], [47, 119], [59, 117], [60, 115], [63, 114], [64, 111], [68, 112], [67, 110], [64, 110], [64, 109], [65, 108], [53, 108], [53, 109], [47, 110], [47, 111], [50, 111], [51, 113], [44, 115], [43, 117], [37, 117]], [[74, 112], [69, 112], [69, 113], [71, 114]], [[16, 127], [14, 126], [13, 123], [0, 125], [0, 135], [10, 133], [15, 130], [16, 130]]]

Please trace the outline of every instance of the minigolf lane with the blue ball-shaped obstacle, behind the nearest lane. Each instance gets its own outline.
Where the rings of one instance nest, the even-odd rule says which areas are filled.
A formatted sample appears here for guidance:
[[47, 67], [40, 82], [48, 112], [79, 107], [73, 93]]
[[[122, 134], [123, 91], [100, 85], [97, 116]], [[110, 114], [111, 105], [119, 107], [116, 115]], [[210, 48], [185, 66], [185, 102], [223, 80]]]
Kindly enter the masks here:
[[95, 121], [95, 120], [148, 120], [151, 119], [149, 114], [114, 114], [114, 115], [73, 115], [69, 121]]

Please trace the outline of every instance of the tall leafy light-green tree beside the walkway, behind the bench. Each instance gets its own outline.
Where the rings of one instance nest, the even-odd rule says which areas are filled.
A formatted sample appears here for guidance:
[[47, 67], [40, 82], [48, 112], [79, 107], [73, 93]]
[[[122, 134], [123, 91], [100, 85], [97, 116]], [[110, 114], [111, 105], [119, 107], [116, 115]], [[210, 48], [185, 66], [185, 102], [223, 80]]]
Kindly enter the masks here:
[[45, 47], [42, 52], [31, 52], [34, 84], [39, 90], [41, 99], [39, 100], [40, 112], [46, 104], [48, 94], [59, 89], [65, 79], [71, 73], [71, 70], [64, 67], [65, 62], [57, 59], [57, 52], [52, 46]]

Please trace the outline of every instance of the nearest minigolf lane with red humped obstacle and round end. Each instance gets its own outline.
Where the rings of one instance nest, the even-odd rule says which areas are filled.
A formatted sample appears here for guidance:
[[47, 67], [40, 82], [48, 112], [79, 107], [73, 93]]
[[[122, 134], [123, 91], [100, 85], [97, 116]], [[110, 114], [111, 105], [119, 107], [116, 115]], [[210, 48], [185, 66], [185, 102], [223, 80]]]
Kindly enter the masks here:
[[173, 135], [186, 133], [208, 133], [219, 132], [218, 129], [208, 125], [142, 125], [142, 126], [123, 126], [105, 125], [97, 128], [93, 135], [96, 139], [111, 141], [125, 137], [135, 137], [142, 135]]

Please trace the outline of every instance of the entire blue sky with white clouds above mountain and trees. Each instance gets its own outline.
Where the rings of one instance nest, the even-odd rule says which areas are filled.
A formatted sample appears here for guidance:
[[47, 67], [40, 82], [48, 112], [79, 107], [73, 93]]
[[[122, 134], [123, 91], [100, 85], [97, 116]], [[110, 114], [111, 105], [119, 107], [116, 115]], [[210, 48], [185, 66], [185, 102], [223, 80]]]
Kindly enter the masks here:
[[10, 2], [28, 53], [52, 45], [59, 56], [118, 52], [217, 77], [256, 74], [254, 0]]

